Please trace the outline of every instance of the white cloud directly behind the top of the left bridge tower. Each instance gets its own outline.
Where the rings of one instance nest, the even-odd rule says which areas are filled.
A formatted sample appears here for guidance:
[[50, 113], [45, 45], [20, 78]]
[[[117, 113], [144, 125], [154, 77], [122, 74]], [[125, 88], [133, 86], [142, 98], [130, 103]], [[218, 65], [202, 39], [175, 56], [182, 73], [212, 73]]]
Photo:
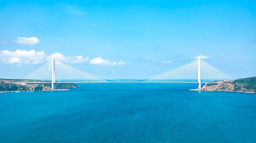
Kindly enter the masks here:
[[63, 61], [65, 63], [84, 63], [89, 59], [88, 57], [83, 58], [83, 56], [64, 56], [63, 54], [56, 52], [50, 56], [47, 56], [46, 61], [52, 60], [53, 57], [54, 59]]

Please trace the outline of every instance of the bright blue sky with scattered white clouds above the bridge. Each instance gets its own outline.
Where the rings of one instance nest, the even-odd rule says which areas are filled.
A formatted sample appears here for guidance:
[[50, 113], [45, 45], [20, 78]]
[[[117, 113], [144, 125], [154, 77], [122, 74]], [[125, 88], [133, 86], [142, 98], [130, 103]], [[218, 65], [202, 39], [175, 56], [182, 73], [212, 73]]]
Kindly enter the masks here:
[[106, 78], [153, 76], [202, 55], [232, 78], [256, 76], [256, 1], [0, 2], [0, 78], [52, 56]]

